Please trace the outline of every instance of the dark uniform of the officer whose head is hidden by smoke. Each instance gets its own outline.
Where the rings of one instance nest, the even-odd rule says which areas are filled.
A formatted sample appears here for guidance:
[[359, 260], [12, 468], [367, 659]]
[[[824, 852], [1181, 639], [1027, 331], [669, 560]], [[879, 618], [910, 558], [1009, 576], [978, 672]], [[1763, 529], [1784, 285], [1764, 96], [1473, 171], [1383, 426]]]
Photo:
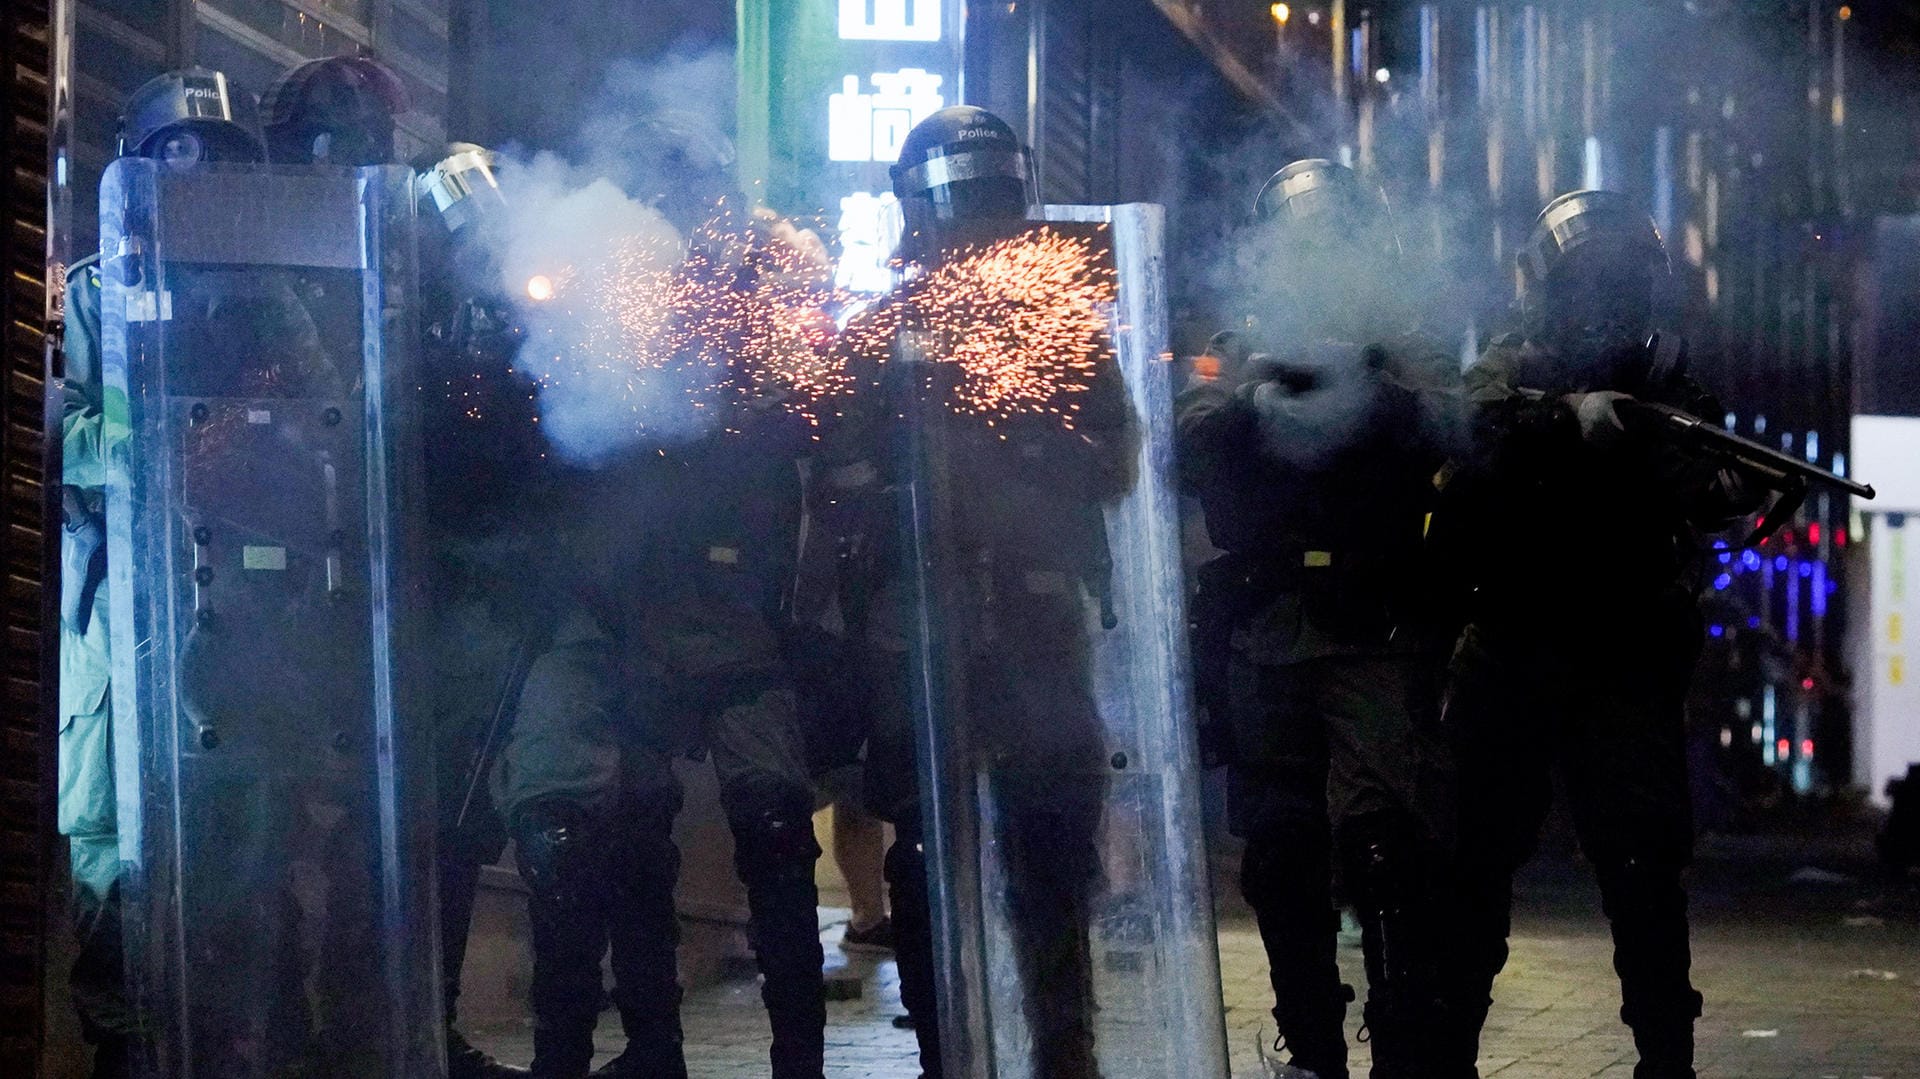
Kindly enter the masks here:
[[[547, 897], [530, 881], [536, 929], [543, 918], [553, 927], [547, 947], [536, 937], [536, 968], [545, 950], [566, 970], [553, 977], [536, 971], [536, 1012], [541, 1000], [551, 1000], [549, 1012], [570, 1016], [564, 1025], [576, 1033], [566, 1035], [568, 1044], [584, 1046], [555, 1060], [591, 1056], [597, 958], [588, 970], [586, 956], [597, 956], [593, 948], [605, 943], [578, 939], [591, 931], [572, 914], [589, 900], [630, 902], [626, 914], [616, 912], [609, 922], [616, 981], [624, 968], [626, 981], [655, 991], [622, 989], [616, 1000], [630, 1046], [641, 1037], [664, 1044], [670, 1008], [659, 1004], [678, 1002], [678, 991], [664, 989], [672, 977], [670, 902], [678, 870], [670, 826], [680, 808], [668, 762], [682, 753], [708, 755], [766, 975], [774, 1075], [818, 1079], [826, 1052], [814, 885], [820, 847], [812, 833], [806, 745], [780, 635], [799, 543], [795, 461], [812, 440], [804, 420], [778, 407], [741, 407], [730, 426], [687, 445], [649, 447], [578, 480], [586, 493], [570, 499], [576, 509], [557, 530], [580, 540], [566, 555], [570, 570], [557, 574], [563, 580], [555, 587], [574, 597], [570, 620], [586, 622], [572, 628], [563, 622], [555, 651], [534, 664], [497, 770], [497, 795], [520, 851], [536, 849], [536, 833], [555, 827], [549, 810], [564, 806], [570, 822], [559, 827], [568, 829], [576, 847], [591, 849], [582, 854], [588, 862], [628, 858], [612, 870], [584, 874], [649, 881], [636, 885], [637, 893], [597, 900]], [[637, 833], [645, 839], [636, 839]], [[664, 900], [664, 914], [655, 899]], [[538, 914], [541, 904], [553, 910], [551, 918]], [[649, 925], [649, 939], [668, 943], [666, 950], [645, 958], [636, 937], [628, 952], [643, 958], [624, 964], [622, 918]], [[672, 1023], [678, 1056], [678, 1018]], [[660, 1067], [657, 1060], [653, 1066]]]

